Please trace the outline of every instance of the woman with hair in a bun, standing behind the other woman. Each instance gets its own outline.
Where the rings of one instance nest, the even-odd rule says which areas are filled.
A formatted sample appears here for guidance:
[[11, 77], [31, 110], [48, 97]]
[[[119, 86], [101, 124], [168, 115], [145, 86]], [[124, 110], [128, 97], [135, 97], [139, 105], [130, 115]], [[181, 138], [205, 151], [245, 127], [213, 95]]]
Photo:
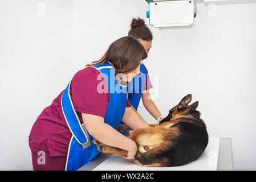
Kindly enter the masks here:
[[[143, 45], [147, 53], [149, 53], [149, 50], [152, 47], [153, 35], [143, 19], [132, 19], [131, 30], [129, 30], [128, 36], [133, 36], [137, 40], [139, 40], [139, 42]], [[140, 74], [144, 74], [145, 76], [141, 76]], [[164, 117], [160, 113], [159, 109], [157, 109], [155, 103], [151, 100], [149, 89], [152, 88], [152, 85], [150, 78], [148, 76], [147, 68], [145, 67], [144, 64], [140, 65], [140, 74], [136, 75], [133, 78], [131, 83], [133, 85], [133, 88], [131, 88], [131, 86], [129, 86], [130, 88], [128, 88], [128, 100], [130, 104], [137, 110], [140, 98], [142, 98], [143, 105], [145, 106], [145, 108], [159, 123], [162, 119], [164, 119]], [[141, 82], [136, 82], [136, 80], [139, 80], [139, 77], [141, 79]]]

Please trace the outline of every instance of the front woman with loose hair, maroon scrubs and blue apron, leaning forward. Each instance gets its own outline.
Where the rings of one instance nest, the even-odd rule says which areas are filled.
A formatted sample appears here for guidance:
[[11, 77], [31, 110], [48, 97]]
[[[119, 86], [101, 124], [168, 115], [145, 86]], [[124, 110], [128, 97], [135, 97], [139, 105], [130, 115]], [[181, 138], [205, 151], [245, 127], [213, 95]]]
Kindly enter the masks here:
[[[139, 74], [140, 65], [146, 57], [147, 52], [137, 39], [126, 36], [113, 42], [99, 61], [75, 74], [67, 88], [42, 111], [32, 126], [29, 146], [34, 170], [76, 170], [82, 167], [99, 154], [91, 142], [92, 137], [109, 146], [127, 150], [128, 155], [124, 158], [134, 158], [137, 151], [136, 143], [116, 129], [121, 121], [132, 129], [149, 126], [131, 108], [127, 100], [127, 88], [124, 88], [125, 93], [111, 92], [109, 88], [112, 88], [111, 78], [115, 88], [127, 86], [125, 84]], [[111, 76], [111, 73], [113, 77], [107, 77]], [[118, 73], [123, 73], [123, 76], [116, 77]], [[66, 97], [65, 93], [67, 101], [69, 96], [78, 119], [75, 124], [78, 126], [76, 129], [81, 130], [78, 133], [82, 133], [82, 125], [88, 131], [83, 131], [83, 137], [86, 137], [89, 147], [79, 142], [79, 137], [71, 126], [73, 124], [68, 119], [68, 113], [65, 111], [67, 108], [63, 103], [66, 102], [63, 99]], [[124, 108], [123, 111], [120, 107]], [[76, 149], [72, 150], [72, 147]], [[80, 155], [83, 155], [82, 158]]]

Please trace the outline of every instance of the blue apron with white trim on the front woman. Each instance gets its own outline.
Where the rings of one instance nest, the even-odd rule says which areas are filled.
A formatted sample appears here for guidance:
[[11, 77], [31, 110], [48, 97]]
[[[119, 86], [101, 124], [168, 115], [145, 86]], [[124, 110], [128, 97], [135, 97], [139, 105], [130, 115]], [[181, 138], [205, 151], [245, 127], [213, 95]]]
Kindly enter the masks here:
[[[102, 73], [108, 82], [110, 100], [104, 122], [117, 129], [124, 115], [127, 88], [116, 82], [115, 71], [110, 63], [104, 63], [100, 66], [95, 65], [94, 67]], [[65, 168], [67, 171], [79, 169], [100, 154], [95, 144], [91, 142], [93, 137], [87, 132], [84, 124], [81, 125], [74, 110], [70, 97], [70, 82], [62, 95], [63, 114], [72, 133]]]

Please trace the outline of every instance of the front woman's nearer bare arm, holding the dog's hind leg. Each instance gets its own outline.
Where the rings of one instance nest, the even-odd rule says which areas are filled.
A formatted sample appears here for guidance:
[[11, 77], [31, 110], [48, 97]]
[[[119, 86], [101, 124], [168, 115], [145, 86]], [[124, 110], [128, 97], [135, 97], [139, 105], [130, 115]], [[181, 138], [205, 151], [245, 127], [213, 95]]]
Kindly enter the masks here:
[[128, 155], [125, 159], [134, 159], [137, 146], [133, 140], [120, 134], [107, 123], [104, 123], [103, 117], [82, 113], [82, 118], [88, 133], [90, 133], [92, 137], [108, 146], [128, 151]]

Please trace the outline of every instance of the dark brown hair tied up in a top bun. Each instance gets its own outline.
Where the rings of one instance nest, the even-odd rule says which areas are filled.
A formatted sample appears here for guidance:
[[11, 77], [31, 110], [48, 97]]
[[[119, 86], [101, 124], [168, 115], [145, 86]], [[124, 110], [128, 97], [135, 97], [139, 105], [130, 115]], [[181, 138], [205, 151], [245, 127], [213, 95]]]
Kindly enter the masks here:
[[144, 19], [133, 18], [131, 23], [131, 30], [128, 32], [128, 36], [134, 36], [136, 39], [142, 39], [151, 41], [153, 39], [153, 35], [151, 30], [145, 24]]

